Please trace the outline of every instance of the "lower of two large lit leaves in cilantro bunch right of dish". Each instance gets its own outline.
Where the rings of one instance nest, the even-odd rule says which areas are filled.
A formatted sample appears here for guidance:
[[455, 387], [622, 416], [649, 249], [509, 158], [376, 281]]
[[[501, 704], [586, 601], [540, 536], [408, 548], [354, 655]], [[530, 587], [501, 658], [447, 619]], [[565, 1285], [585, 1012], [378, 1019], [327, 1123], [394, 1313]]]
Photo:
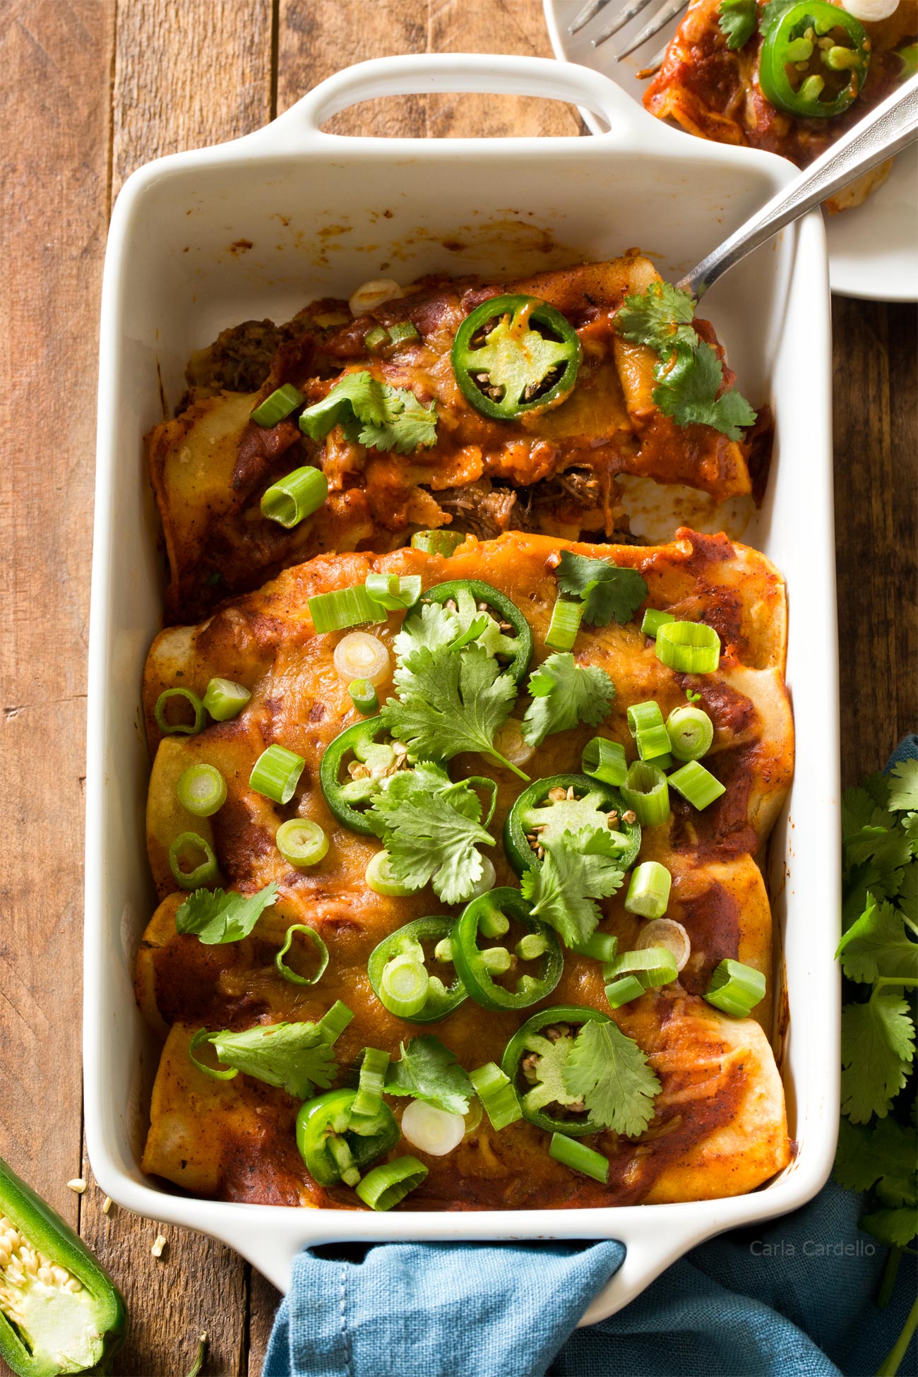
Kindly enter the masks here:
[[885, 1118], [915, 1055], [908, 1005], [875, 990], [864, 1004], [841, 1011], [841, 1108], [853, 1124]]

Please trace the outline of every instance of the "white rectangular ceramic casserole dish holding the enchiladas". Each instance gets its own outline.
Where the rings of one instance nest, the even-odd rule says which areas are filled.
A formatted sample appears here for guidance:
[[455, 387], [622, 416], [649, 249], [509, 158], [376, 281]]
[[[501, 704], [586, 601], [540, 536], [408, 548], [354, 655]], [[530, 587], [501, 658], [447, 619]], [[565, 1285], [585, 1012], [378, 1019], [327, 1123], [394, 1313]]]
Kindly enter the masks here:
[[[596, 110], [610, 132], [564, 139], [337, 138], [321, 124], [370, 96], [490, 91]], [[421, 273], [517, 274], [650, 252], [690, 267], [790, 175], [780, 158], [690, 142], [639, 117], [595, 72], [495, 56], [383, 58], [351, 67], [268, 128], [161, 158], [114, 208], [102, 293], [99, 445], [89, 635], [85, 874], [85, 1124], [103, 1191], [156, 1220], [238, 1249], [285, 1289], [306, 1243], [344, 1239], [618, 1238], [628, 1257], [590, 1307], [612, 1314], [694, 1243], [808, 1201], [826, 1180], [838, 1121], [838, 744], [824, 233], [809, 215], [705, 300], [746, 395], [772, 401], [778, 445], [765, 504], [745, 538], [790, 589], [787, 679], [797, 782], [775, 829], [771, 894], [787, 964], [783, 1049], [793, 1164], [725, 1201], [491, 1213], [311, 1210], [171, 1194], [139, 1169], [157, 1064], [132, 965], [154, 895], [145, 858], [149, 756], [139, 711], [160, 628], [162, 560], [142, 435], [175, 405], [193, 347], [249, 317], [288, 318], [311, 297]], [[383, 212], [392, 212], [391, 216]], [[445, 242], [449, 244], [449, 248]], [[388, 264], [388, 266], [387, 266]]]

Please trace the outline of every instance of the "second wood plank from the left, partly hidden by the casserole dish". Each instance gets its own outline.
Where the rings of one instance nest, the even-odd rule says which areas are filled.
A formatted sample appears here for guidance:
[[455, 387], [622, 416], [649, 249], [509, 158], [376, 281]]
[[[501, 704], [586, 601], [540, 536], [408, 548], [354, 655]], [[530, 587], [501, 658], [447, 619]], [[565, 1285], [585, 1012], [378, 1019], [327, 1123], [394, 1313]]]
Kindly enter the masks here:
[[[235, 138], [271, 118], [271, 0], [217, 0], [206, 23], [200, 7], [179, 0], [118, 6], [113, 196], [153, 157]], [[85, 1175], [91, 1181], [88, 1164]], [[249, 1265], [228, 1248], [171, 1227], [157, 1260], [154, 1223], [117, 1208], [103, 1215], [92, 1181], [83, 1201], [81, 1232], [122, 1287], [131, 1314], [118, 1373], [186, 1371], [202, 1329], [211, 1336], [208, 1377], [245, 1371]]]

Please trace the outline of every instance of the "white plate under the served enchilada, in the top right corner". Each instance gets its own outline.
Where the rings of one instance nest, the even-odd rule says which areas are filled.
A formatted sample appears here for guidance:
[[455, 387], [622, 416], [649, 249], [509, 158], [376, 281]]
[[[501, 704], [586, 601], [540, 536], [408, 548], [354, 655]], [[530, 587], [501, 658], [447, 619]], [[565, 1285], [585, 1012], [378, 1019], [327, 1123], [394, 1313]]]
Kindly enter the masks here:
[[[584, 0], [544, 0], [544, 6], [555, 56], [604, 73], [640, 105], [647, 81], [640, 80], [637, 72], [674, 33], [679, 21], [662, 29], [637, 52], [617, 62], [612, 48], [636, 36], [659, 4], [651, 4], [599, 48], [590, 39], [603, 30], [612, 14], [625, 8], [626, 0], [610, 0], [606, 10], [574, 34], [568, 33], [568, 25], [582, 10]], [[601, 125], [596, 116], [588, 110], [581, 113], [593, 134], [599, 132]], [[655, 118], [645, 110], [643, 113], [648, 120]], [[694, 138], [681, 129], [679, 132], [684, 139]], [[761, 156], [757, 149], [738, 151], [749, 158]], [[860, 296], [868, 302], [918, 302], [918, 143], [899, 154], [884, 186], [864, 205], [840, 215], [826, 212], [826, 235], [831, 289], [838, 296]]]

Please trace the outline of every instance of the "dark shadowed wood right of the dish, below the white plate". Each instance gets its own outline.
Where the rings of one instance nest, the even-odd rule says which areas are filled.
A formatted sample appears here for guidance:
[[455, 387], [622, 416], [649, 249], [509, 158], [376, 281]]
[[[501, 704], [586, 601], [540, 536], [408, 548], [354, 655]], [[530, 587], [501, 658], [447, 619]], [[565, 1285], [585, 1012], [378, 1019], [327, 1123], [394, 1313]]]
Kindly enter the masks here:
[[[895, 318], [895, 328], [890, 321]], [[915, 308], [834, 302], [842, 778], [915, 728]]]

